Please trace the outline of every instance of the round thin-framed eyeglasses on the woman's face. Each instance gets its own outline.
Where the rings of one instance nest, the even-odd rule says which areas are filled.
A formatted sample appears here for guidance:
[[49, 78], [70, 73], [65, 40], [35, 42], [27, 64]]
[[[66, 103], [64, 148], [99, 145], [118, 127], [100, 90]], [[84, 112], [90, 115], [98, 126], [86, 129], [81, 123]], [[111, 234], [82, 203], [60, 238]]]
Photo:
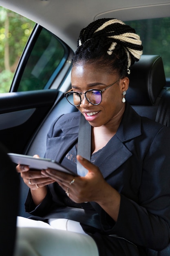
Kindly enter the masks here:
[[91, 89], [91, 90], [88, 90], [83, 93], [83, 92], [73, 92], [73, 90], [71, 89], [68, 92], [64, 93], [64, 96], [66, 97], [68, 102], [75, 107], [80, 106], [80, 104], [82, 102], [82, 97], [81, 97], [82, 94], [85, 95], [86, 100], [89, 103], [91, 103], [93, 105], [99, 105], [102, 102], [102, 92], [104, 92], [106, 89], [108, 89], [110, 86], [114, 85], [118, 81], [108, 85], [106, 88], [104, 88], [102, 90]]

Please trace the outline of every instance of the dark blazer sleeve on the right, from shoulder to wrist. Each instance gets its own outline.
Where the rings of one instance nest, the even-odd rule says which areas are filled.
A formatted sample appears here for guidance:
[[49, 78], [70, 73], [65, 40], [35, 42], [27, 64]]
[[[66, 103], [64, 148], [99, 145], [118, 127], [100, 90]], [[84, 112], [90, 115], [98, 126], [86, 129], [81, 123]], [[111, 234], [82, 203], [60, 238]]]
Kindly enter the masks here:
[[107, 234], [116, 234], [157, 251], [167, 247], [170, 240], [169, 154], [170, 131], [163, 127], [145, 155], [138, 202], [121, 195], [116, 223], [101, 209], [101, 221]]

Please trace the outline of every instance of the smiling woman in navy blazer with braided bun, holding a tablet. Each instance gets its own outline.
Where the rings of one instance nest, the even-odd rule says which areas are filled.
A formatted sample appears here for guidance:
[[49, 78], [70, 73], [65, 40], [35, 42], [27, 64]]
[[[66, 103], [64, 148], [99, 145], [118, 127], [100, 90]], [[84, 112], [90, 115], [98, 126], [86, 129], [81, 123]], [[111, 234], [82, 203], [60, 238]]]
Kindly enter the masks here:
[[[86, 249], [77, 255], [143, 256], [147, 247], [160, 250], [168, 245], [170, 130], [140, 117], [125, 100], [130, 67], [141, 54], [139, 36], [120, 20], [100, 19], [82, 29], [73, 56], [72, 90], [65, 94], [79, 112], [52, 124], [45, 155], [75, 175], [17, 167], [30, 188], [27, 212], [53, 227], [58, 218], [66, 225], [71, 220], [69, 230], [93, 238], [88, 244], [80, 235]], [[91, 125], [90, 162], [77, 155], [81, 114]], [[88, 170], [85, 177], [77, 176], [77, 162]], [[82, 229], [77, 231], [79, 223]], [[94, 245], [89, 253], [94, 241], [98, 252]], [[57, 239], [55, 243], [53, 252], [60, 255]]]

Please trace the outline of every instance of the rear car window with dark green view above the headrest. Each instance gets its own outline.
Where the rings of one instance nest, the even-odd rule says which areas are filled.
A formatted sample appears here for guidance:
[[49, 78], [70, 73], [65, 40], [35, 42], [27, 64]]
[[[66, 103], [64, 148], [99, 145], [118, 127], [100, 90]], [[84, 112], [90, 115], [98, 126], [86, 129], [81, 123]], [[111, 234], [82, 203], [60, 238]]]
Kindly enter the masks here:
[[170, 18], [126, 21], [140, 35], [143, 54], [161, 55], [166, 78], [170, 78]]

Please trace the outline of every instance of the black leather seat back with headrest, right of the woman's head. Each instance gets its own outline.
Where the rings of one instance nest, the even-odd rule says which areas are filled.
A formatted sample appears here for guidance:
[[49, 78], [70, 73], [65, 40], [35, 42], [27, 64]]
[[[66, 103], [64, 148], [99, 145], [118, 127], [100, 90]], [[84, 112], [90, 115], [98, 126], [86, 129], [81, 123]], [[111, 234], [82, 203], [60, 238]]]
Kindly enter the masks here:
[[139, 115], [169, 126], [170, 88], [165, 86], [161, 56], [143, 55], [132, 66], [126, 100]]

